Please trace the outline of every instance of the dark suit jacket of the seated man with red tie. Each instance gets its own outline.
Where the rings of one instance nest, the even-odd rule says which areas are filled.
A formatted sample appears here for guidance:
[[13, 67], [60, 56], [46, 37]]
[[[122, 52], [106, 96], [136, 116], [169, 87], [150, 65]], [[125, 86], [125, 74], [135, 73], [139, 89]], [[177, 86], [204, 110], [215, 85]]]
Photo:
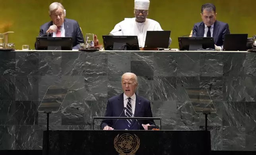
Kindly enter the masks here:
[[[47, 22], [44, 25], [40, 26], [40, 32], [38, 36], [44, 36], [48, 28], [53, 25], [53, 22]], [[73, 49], [78, 49], [80, 43], [84, 43], [83, 34], [81, 32], [80, 26], [77, 21], [73, 19], [64, 19], [64, 29], [65, 37], [72, 37], [73, 40]], [[49, 34], [49, 37], [52, 36], [52, 33]]]

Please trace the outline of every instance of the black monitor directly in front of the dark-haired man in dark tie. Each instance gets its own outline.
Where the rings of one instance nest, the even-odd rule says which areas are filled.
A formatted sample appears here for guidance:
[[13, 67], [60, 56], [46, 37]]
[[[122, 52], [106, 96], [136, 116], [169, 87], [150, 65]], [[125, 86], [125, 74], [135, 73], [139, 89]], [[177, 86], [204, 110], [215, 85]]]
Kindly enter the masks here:
[[180, 51], [214, 50], [213, 37], [178, 37]]

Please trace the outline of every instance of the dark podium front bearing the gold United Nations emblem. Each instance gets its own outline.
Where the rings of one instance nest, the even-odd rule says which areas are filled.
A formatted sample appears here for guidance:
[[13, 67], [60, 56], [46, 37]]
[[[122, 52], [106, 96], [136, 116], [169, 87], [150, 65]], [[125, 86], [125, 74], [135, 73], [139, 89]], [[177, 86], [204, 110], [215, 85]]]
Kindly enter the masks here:
[[[209, 131], [49, 130], [49, 155], [209, 155]], [[47, 155], [47, 131], [43, 155]]]

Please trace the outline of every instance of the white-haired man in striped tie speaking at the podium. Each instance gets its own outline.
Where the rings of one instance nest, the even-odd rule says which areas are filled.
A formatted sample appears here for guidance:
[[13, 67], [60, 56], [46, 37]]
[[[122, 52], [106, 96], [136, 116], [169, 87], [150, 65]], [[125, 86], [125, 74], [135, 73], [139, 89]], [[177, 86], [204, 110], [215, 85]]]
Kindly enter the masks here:
[[[138, 86], [137, 76], [133, 73], [122, 75], [124, 93], [109, 98], [105, 117], [152, 117], [149, 100], [135, 93]], [[126, 109], [124, 110], [124, 107]], [[147, 130], [147, 126], [155, 125], [153, 120], [105, 119], [101, 123], [103, 130]]]

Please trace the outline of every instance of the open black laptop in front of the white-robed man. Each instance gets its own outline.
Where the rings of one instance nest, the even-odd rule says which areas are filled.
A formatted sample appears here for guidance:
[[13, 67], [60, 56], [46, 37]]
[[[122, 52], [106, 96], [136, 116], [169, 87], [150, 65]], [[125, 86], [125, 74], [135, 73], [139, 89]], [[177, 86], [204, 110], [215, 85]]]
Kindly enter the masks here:
[[147, 31], [144, 47], [168, 48], [171, 31]]

